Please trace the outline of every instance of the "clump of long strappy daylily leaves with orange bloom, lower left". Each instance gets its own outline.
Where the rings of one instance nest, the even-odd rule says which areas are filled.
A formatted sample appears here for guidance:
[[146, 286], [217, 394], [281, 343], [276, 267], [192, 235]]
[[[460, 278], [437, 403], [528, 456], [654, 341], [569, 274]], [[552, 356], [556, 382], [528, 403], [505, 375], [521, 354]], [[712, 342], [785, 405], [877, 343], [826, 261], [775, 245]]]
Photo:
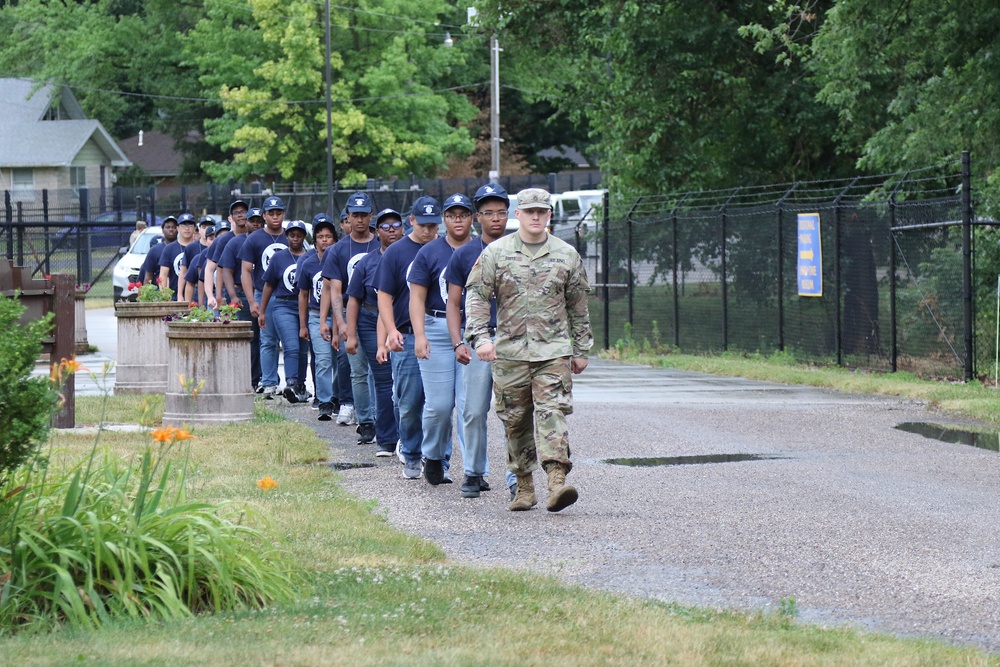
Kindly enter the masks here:
[[0, 634], [91, 627], [117, 617], [182, 618], [291, 599], [288, 568], [246, 510], [186, 495], [187, 462], [94, 451], [66, 471], [22, 467], [0, 486]]

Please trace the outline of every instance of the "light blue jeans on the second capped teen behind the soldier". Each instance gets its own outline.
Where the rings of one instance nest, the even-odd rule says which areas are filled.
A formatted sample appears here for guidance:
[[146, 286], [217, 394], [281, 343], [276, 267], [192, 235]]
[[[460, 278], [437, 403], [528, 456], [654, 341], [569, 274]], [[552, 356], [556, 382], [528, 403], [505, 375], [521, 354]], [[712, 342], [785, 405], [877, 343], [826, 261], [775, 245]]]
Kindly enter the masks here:
[[[424, 384], [424, 412], [421, 416], [424, 457], [437, 461], [451, 460], [452, 415], [465, 408], [462, 374], [465, 366], [455, 361], [448, 323], [443, 317], [424, 317], [424, 331], [431, 346], [427, 359], [420, 359], [420, 379]], [[465, 426], [458, 420], [458, 443], [465, 451]], [[445, 466], [447, 467], [447, 466]]]

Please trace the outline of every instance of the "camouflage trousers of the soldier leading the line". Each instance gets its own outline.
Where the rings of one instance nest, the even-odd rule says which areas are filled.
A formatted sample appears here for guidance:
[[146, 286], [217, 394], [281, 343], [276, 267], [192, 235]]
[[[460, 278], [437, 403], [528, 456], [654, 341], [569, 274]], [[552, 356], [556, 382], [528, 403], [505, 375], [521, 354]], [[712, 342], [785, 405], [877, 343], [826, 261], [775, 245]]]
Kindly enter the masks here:
[[572, 467], [566, 415], [573, 412], [570, 358], [493, 362], [496, 411], [507, 436], [507, 468], [524, 475], [549, 461]]

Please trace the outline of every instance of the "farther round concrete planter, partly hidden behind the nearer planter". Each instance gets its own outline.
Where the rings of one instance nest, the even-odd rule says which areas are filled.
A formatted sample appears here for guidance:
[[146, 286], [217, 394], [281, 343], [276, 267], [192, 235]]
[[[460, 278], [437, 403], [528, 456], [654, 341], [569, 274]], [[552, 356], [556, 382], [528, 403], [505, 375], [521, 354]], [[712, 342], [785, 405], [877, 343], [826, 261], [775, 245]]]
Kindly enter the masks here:
[[176, 301], [115, 304], [118, 319], [116, 394], [162, 394], [167, 390], [167, 323], [163, 318], [190, 306]]

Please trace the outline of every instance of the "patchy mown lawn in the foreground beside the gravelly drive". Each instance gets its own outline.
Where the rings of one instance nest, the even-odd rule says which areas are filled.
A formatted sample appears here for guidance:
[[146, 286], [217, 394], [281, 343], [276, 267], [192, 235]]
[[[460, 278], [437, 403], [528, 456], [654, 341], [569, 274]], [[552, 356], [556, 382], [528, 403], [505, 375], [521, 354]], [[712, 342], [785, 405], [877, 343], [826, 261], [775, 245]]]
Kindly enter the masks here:
[[[77, 398], [78, 422], [155, 423], [162, 400]], [[190, 441], [190, 495], [232, 499], [299, 571], [299, 599], [278, 608], [183, 621], [123, 620], [94, 630], [0, 631], [9, 664], [100, 665], [1000, 665], [939, 642], [800, 625], [794, 602], [762, 615], [693, 609], [567, 586], [551, 577], [456, 565], [391, 528], [377, 504], [317, 462], [306, 426], [258, 409], [254, 422]], [[147, 433], [104, 432], [134, 456]], [[94, 436], [55, 433], [53, 466]], [[278, 488], [256, 481], [269, 475]], [[0, 557], [2, 557], [0, 551]]]

